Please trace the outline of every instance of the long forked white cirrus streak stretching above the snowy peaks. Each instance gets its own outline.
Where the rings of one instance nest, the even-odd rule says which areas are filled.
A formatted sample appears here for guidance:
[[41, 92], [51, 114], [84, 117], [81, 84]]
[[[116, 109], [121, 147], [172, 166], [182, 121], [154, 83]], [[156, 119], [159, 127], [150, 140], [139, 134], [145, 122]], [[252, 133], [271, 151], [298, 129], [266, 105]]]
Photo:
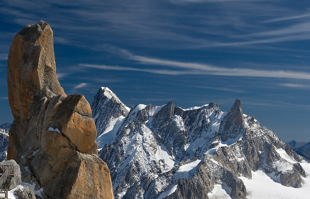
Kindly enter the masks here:
[[190, 62], [178, 62], [172, 60], [164, 60], [159, 58], [132, 55], [127, 52], [129, 59], [139, 61], [140, 64], [157, 65], [170, 67], [170, 69], [154, 69], [154, 68], [133, 68], [123, 66], [108, 66], [96, 64], [79, 64], [80, 66], [97, 68], [103, 70], [128, 70], [142, 71], [148, 73], [166, 74], [166, 75], [216, 75], [216, 76], [236, 76], [236, 77], [270, 77], [270, 78], [289, 78], [289, 79], [307, 79], [310, 80], [310, 73], [296, 72], [285, 70], [257, 70], [249, 68], [227, 68], [210, 64], [199, 64]]

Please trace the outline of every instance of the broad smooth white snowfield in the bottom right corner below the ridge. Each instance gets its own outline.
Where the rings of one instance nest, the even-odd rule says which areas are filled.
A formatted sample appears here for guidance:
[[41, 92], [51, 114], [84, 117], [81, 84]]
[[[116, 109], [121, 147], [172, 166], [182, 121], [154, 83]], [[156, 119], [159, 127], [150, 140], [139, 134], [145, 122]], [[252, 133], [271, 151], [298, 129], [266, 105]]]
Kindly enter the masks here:
[[248, 192], [248, 199], [308, 199], [310, 196], [310, 163], [300, 163], [308, 175], [301, 188], [286, 187], [273, 181], [262, 170], [252, 171], [252, 179], [239, 177]]

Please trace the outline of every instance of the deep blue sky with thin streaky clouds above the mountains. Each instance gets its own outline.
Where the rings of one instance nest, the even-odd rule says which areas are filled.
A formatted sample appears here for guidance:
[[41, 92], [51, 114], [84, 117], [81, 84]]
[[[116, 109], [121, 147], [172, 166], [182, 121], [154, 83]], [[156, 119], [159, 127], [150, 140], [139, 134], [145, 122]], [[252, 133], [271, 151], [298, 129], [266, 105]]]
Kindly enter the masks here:
[[133, 0], [0, 2], [0, 122], [12, 122], [7, 55], [25, 25], [54, 34], [56, 74], [67, 94], [92, 102], [109, 87], [131, 107], [241, 99], [284, 141], [310, 141], [308, 1]]

